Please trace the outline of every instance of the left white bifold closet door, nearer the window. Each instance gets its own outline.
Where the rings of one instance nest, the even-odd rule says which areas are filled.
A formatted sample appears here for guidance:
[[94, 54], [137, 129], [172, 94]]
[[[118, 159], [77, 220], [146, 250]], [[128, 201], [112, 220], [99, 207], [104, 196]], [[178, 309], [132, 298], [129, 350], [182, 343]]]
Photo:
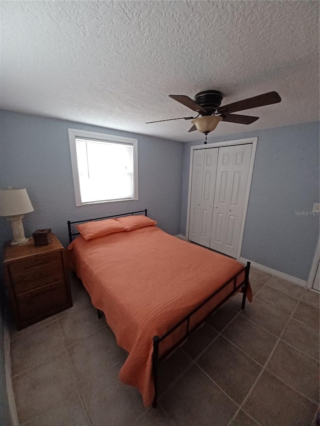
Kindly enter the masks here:
[[218, 148], [193, 151], [189, 240], [209, 247]]

